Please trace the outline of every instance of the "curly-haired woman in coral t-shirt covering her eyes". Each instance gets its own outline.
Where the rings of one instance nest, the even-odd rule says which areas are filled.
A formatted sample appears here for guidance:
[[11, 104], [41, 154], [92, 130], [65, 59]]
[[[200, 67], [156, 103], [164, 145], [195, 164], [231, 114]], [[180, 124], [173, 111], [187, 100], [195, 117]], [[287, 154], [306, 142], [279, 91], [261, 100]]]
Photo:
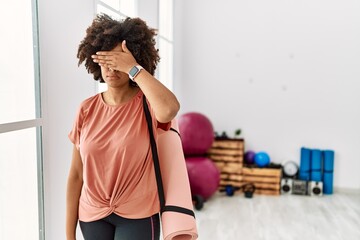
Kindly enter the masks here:
[[159, 201], [142, 99], [147, 98], [153, 127], [164, 130], [179, 102], [153, 76], [159, 61], [155, 35], [139, 18], [117, 21], [98, 15], [79, 45], [79, 64], [85, 62], [108, 90], [81, 103], [69, 133], [74, 148], [67, 240], [75, 239], [78, 221], [85, 240], [159, 239]]

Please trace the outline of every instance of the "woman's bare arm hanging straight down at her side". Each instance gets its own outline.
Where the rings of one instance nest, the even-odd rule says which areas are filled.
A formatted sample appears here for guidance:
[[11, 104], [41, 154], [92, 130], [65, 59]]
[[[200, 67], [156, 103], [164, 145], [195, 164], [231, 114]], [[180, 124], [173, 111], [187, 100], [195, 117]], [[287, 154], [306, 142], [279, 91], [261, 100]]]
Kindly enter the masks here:
[[70, 172], [66, 191], [66, 239], [76, 239], [76, 226], [79, 219], [79, 199], [83, 185], [83, 165], [79, 150], [73, 148]]

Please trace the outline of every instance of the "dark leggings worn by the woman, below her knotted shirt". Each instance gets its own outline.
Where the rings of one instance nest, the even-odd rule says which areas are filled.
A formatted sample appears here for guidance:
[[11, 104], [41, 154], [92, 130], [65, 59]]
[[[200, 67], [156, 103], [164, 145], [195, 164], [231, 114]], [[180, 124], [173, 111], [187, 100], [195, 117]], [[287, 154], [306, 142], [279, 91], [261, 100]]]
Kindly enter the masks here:
[[80, 222], [85, 240], [159, 240], [159, 214], [148, 218], [127, 219], [114, 213], [93, 222]]

